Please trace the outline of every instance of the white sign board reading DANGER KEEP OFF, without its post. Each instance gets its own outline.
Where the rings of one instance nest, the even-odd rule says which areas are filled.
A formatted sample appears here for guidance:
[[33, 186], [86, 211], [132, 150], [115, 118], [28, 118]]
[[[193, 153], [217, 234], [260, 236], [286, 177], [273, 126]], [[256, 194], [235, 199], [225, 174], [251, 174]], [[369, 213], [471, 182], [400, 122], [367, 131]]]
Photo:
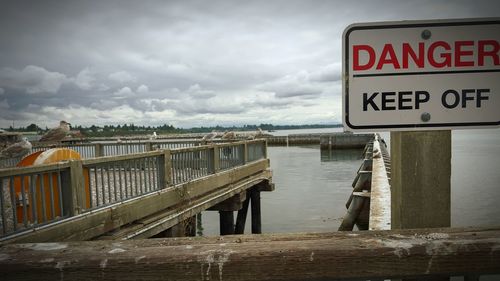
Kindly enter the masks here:
[[500, 125], [500, 19], [354, 24], [343, 35], [346, 130]]

